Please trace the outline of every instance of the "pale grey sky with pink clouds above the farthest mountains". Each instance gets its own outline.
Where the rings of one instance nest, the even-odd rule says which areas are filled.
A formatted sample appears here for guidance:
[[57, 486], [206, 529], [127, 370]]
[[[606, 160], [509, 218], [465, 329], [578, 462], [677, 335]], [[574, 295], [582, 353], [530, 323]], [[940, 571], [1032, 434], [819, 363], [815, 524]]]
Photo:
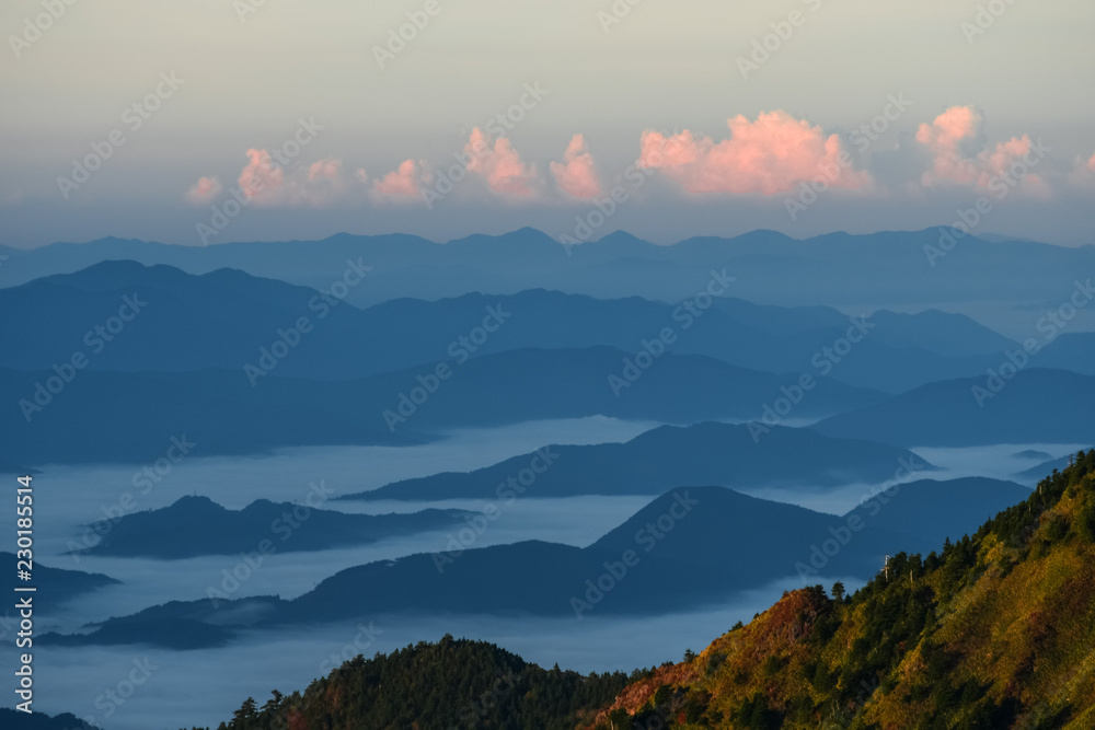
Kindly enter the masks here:
[[0, 244], [1095, 243], [1093, 23], [1084, 0], [9, 0]]

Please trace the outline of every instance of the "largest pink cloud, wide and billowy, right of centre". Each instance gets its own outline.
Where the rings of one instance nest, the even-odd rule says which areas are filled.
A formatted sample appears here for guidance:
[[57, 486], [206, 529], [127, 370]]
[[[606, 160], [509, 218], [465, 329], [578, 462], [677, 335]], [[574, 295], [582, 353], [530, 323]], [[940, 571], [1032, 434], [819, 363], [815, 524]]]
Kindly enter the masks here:
[[762, 113], [756, 121], [738, 115], [727, 126], [730, 137], [719, 142], [688, 130], [670, 137], [647, 130], [638, 164], [660, 170], [689, 193], [775, 195], [817, 178], [846, 188], [872, 183], [868, 173], [851, 169], [837, 135], [826, 137], [820, 127], [785, 112]]

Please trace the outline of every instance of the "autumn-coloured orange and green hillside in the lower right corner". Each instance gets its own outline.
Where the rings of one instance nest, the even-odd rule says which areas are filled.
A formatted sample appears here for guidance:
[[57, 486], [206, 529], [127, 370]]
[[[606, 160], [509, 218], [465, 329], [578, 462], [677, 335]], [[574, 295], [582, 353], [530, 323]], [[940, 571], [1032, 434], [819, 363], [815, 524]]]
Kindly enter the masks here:
[[597, 728], [1095, 727], [1095, 451], [863, 590], [786, 594], [627, 687]]

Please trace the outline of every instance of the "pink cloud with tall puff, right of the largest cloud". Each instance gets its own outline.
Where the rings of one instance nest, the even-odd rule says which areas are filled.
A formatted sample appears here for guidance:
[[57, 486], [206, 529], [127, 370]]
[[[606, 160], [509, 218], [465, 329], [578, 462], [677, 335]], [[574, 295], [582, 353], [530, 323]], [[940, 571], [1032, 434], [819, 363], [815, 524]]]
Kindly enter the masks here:
[[1035, 147], [1029, 135], [1013, 137], [975, 157], [963, 150], [980, 134], [982, 123], [983, 118], [972, 107], [953, 106], [931, 124], [921, 124], [917, 141], [932, 153], [932, 170], [923, 174], [921, 183], [925, 186], [956, 183], [988, 188], [994, 179], [1005, 175], [1015, 177], [1012, 172], [1015, 166], [1016, 171], [1025, 173], [1022, 185], [1028, 192], [1046, 193], [1042, 178], [1030, 173], [1030, 165], [1023, 162], [1024, 158], [1029, 159]]

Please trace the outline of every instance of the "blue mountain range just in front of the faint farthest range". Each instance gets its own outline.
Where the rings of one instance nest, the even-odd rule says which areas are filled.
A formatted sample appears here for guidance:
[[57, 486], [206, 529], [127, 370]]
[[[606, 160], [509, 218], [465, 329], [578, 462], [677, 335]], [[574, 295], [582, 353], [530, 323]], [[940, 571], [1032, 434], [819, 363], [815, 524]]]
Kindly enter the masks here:
[[[122, 332], [94, 333], [134, 297], [139, 311]], [[980, 372], [1017, 347], [966, 316], [937, 311], [856, 318], [829, 308], [760, 306], [730, 296], [702, 300], [704, 309], [685, 303], [529, 290], [397, 299], [359, 310], [239, 270], [192, 276], [166, 266], [105, 262], [0, 289], [0, 305], [13, 313], [0, 325], [0, 336], [12, 344], [0, 367], [43, 370], [91, 349], [89, 370], [242, 369], [264, 367], [262, 350], [285, 340], [289, 354], [272, 360], [279, 375], [346, 380], [515, 349], [607, 346], [633, 356], [664, 348], [766, 372], [831, 371], [852, 385], [899, 392]], [[301, 318], [307, 332], [297, 332]], [[491, 331], [480, 334], [488, 336], [470, 340], [484, 322]], [[659, 341], [667, 328], [669, 344]], [[849, 332], [855, 338], [850, 351], [825, 354]]]

